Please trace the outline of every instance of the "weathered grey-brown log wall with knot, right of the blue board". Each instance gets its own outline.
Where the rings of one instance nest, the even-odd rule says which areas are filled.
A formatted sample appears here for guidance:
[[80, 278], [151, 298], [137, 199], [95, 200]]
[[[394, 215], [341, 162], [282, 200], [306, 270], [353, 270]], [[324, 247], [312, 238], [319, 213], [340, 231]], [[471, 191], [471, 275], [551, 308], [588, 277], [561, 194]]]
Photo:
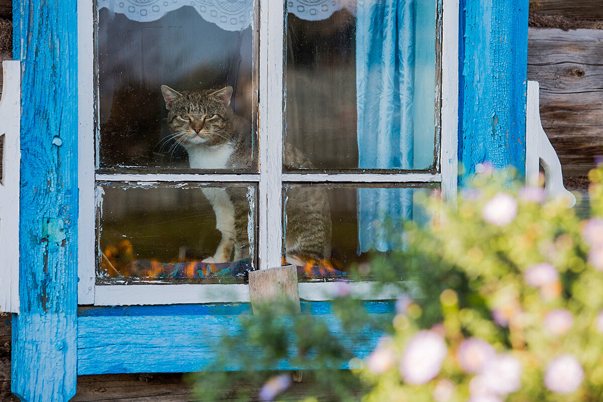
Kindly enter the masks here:
[[603, 154], [603, 31], [529, 29], [528, 78], [540, 83], [540, 117], [566, 183]]

